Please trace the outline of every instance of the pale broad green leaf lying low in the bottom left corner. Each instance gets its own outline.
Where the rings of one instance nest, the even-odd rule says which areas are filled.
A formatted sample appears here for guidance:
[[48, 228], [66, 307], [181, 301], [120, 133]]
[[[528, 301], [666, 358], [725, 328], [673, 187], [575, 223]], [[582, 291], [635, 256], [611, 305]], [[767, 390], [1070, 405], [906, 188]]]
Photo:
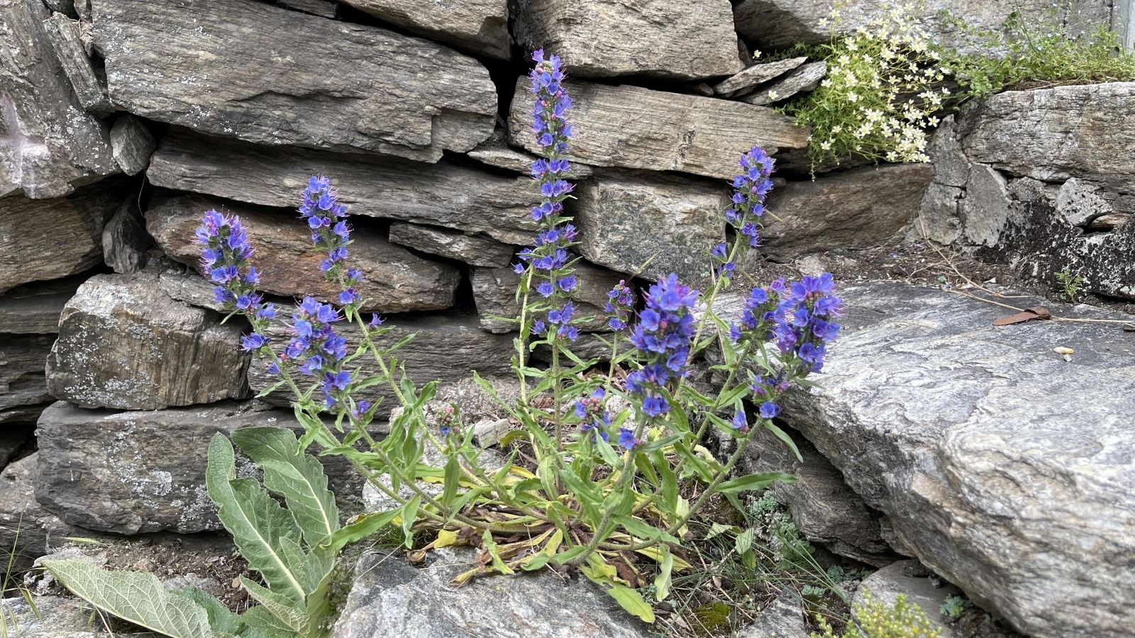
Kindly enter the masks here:
[[171, 638], [212, 638], [209, 614], [192, 597], [168, 591], [152, 573], [108, 571], [79, 559], [43, 568], [95, 607]]

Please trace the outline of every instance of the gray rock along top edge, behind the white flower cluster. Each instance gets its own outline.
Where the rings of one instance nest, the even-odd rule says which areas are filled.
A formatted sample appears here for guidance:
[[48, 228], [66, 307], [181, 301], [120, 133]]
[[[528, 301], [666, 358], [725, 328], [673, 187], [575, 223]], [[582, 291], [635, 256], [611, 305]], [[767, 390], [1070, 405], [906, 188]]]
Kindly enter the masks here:
[[[1075, 10], [1068, 16], [1069, 34], [1095, 24], [1109, 24], [1111, 3], [1107, 0], [1075, 2]], [[1026, 19], [1046, 19], [1054, 7], [1045, 0], [1020, 2], [982, 2], [977, 0], [930, 0], [918, 5], [915, 18], [926, 23], [933, 36], [940, 39], [953, 32], [939, 14], [948, 9], [955, 17], [965, 18], [975, 28], [999, 28], [1014, 10], [1020, 10]], [[1061, 5], [1066, 6], [1066, 5]], [[831, 0], [742, 0], [734, 2], [733, 17], [737, 31], [756, 42], [758, 49], [790, 47], [797, 42], [818, 44], [829, 42], [832, 30], [836, 34], [851, 33], [878, 16], [885, 5], [874, 0], [848, 0], [840, 5], [840, 20], [836, 24], [823, 22], [831, 16]]]

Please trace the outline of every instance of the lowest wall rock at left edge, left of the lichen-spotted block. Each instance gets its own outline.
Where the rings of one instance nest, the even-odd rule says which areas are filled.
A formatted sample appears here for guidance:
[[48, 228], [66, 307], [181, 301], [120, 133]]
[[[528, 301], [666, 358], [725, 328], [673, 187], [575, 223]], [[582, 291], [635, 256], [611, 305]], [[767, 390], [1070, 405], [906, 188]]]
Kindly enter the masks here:
[[39, 459], [39, 453], [25, 456], [0, 472], [0, 561], [5, 571], [9, 560], [14, 572], [30, 568], [32, 561], [76, 531], [35, 500]]

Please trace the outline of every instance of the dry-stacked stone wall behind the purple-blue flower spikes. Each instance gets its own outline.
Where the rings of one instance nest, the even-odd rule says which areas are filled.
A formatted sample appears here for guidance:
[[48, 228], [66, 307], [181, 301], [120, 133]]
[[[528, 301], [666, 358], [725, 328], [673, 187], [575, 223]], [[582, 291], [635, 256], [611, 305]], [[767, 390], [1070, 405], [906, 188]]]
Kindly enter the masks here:
[[[1111, 8], [1082, 10], [1105, 20]], [[201, 481], [209, 437], [297, 427], [286, 396], [251, 398], [271, 377], [199, 271], [192, 232], [209, 208], [247, 224], [269, 294], [327, 299], [295, 207], [310, 175], [330, 176], [367, 310], [397, 326], [392, 339], [419, 334], [407, 372], [506, 375], [512, 335], [497, 317], [515, 312], [508, 266], [538, 201], [524, 77], [537, 47], [572, 78], [568, 210], [589, 312], [620, 279], [704, 280], [753, 144], [779, 162], [763, 249], [774, 261], [913, 227], [991, 259], [1025, 254], [1022, 270], [1075, 259], [1100, 272], [1093, 289], [1132, 294], [1132, 85], [999, 95], [943, 124], [933, 167], [813, 179], [808, 132], [771, 96], [812, 90], [823, 62], [755, 65], [748, 51], [814, 41], [826, 12], [779, 0], [0, 0], [0, 553], [20, 526], [25, 555], [75, 529], [217, 529]], [[1037, 242], [1050, 250], [1022, 247]], [[843, 545], [893, 557], [882, 537]]]

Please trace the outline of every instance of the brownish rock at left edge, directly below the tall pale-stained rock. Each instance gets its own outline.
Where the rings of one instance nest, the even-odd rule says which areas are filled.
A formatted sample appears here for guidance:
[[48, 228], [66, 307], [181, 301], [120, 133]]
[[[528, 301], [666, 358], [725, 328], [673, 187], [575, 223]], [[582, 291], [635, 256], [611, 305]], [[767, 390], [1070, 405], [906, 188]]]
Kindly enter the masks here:
[[102, 228], [123, 201], [119, 186], [106, 181], [56, 200], [0, 199], [0, 292], [102, 262]]

